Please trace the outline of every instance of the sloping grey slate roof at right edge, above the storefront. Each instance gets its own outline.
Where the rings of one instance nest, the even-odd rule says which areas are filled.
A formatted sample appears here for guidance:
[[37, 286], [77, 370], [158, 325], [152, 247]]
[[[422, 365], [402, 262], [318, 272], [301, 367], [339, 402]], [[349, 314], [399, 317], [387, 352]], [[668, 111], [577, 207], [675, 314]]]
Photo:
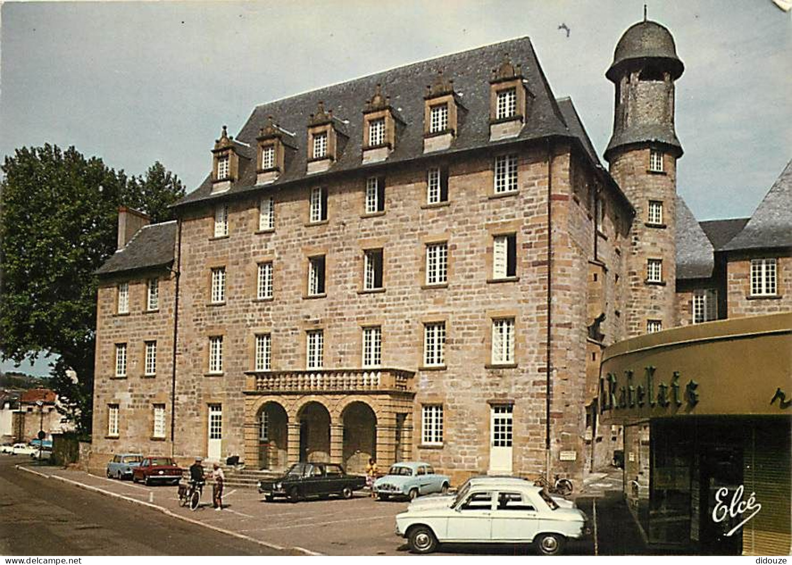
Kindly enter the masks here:
[[792, 161], [724, 251], [759, 248], [792, 248]]

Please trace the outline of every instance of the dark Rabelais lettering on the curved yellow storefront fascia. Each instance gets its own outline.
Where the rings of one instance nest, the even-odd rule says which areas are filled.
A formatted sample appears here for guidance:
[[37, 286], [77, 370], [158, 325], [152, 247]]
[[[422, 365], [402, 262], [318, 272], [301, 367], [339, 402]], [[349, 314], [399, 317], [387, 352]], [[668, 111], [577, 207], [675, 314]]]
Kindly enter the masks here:
[[659, 381], [656, 385], [656, 370], [653, 366], [645, 367], [644, 378], [639, 385], [634, 383], [634, 372], [631, 370], [624, 371], [626, 384], [621, 386], [614, 373], [600, 378], [600, 412], [619, 408], [643, 408], [645, 405], [651, 408], [668, 408], [673, 404], [679, 408], [687, 404], [688, 408], [693, 408], [699, 404], [699, 383], [691, 379], [683, 390], [680, 385], [680, 372], [674, 371], [668, 384]]

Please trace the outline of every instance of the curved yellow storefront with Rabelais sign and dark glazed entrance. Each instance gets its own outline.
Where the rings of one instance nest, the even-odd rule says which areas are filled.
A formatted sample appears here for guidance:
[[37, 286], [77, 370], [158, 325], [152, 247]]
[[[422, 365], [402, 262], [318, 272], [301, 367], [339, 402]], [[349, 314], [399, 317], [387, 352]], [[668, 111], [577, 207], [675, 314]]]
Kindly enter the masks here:
[[608, 347], [600, 419], [624, 427], [624, 490], [650, 546], [788, 555], [792, 313]]

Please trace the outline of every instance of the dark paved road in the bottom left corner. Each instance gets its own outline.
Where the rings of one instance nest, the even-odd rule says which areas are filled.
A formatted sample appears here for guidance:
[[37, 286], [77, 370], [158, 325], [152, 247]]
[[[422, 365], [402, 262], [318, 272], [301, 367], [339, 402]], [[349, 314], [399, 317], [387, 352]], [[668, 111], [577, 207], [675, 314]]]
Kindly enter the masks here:
[[48, 480], [0, 455], [0, 554], [284, 555], [157, 510]]

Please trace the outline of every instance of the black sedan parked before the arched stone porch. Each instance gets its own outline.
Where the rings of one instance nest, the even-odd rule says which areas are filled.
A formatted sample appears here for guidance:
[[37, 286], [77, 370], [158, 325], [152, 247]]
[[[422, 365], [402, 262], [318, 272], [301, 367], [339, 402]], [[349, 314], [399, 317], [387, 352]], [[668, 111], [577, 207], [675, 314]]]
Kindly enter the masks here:
[[311, 496], [339, 495], [351, 499], [353, 491], [366, 486], [366, 477], [347, 475], [341, 465], [334, 463], [295, 463], [285, 475], [277, 479], [260, 480], [258, 491], [267, 502], [286, 497], [297, 502]]

